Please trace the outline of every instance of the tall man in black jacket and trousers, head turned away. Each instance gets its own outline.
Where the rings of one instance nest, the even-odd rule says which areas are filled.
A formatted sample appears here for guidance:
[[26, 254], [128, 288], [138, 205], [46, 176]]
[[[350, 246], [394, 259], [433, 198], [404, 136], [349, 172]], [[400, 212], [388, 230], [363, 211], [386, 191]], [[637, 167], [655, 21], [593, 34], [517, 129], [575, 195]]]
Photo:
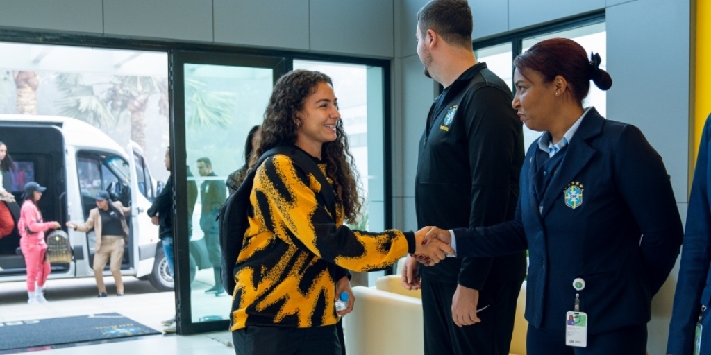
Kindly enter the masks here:
[[[506, 83], [474, 57], [469, 4], [430, 1], [417, 22], [424, 74], [444, 87], [419, 144], [417, 224], [451, 229], [513, 219], [524, 156], [522, 124]], [[422, 288], [424, 354], [508, 354], [525, 266], [524, 253], [447, 258], [419, 267], [417, 275], [417, 262], [408, 257], [402, 283]]]

